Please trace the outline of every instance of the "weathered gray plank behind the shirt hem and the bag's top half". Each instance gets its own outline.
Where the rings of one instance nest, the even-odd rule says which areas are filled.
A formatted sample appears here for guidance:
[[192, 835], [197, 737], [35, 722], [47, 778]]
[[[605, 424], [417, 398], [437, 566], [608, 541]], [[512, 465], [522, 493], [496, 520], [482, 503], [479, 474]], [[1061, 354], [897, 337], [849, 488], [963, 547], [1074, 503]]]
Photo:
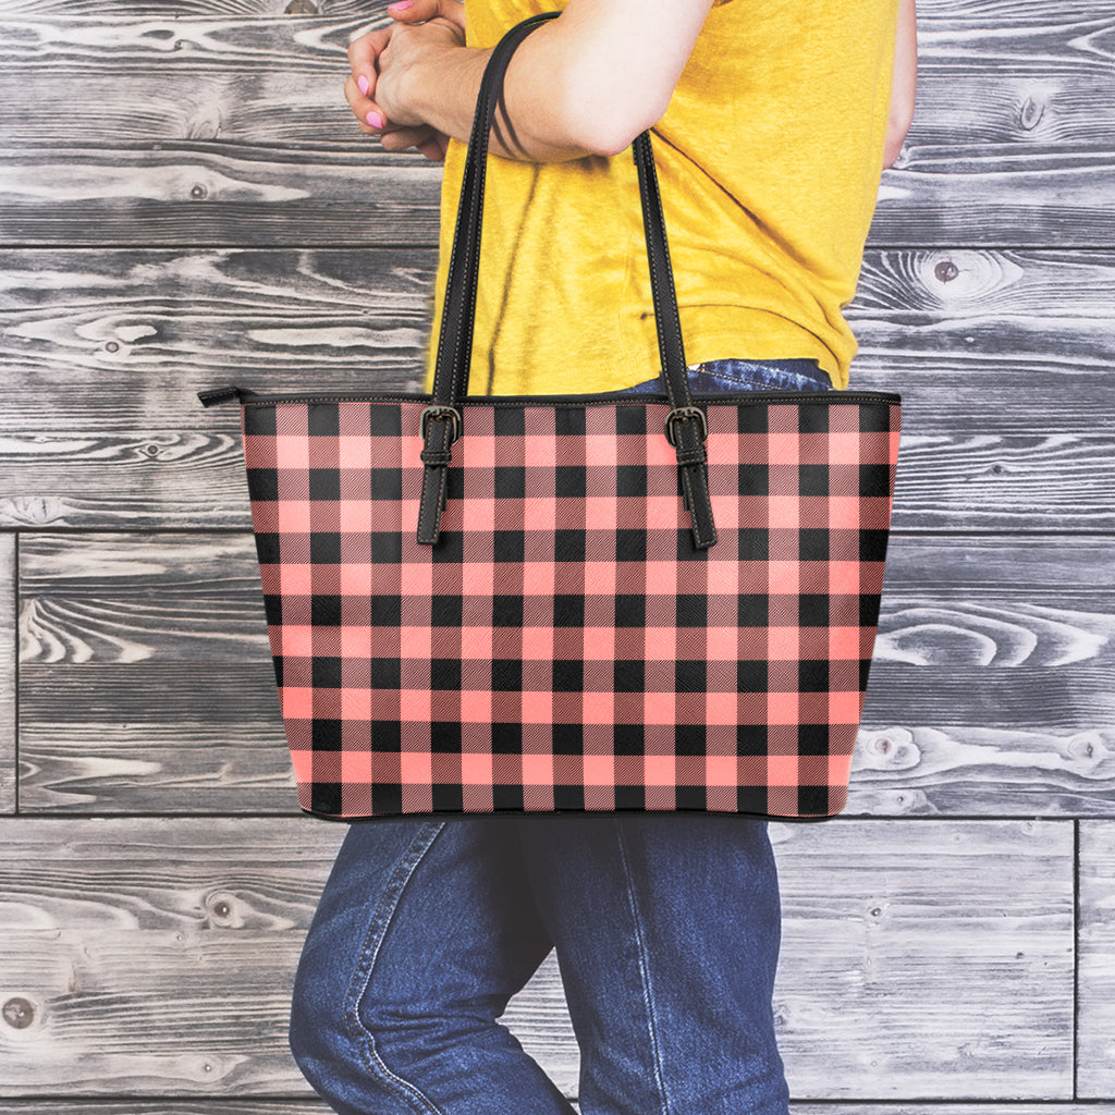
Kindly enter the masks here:
[[[9, 253], [0, 525], [249, 527], [237, 410], [195, 392], [418, 389], [434, 265]], [[905, 403], [896, 530], [1115, 529], [1115, 255], [871, 252], [850, 317], [856, 385]]]

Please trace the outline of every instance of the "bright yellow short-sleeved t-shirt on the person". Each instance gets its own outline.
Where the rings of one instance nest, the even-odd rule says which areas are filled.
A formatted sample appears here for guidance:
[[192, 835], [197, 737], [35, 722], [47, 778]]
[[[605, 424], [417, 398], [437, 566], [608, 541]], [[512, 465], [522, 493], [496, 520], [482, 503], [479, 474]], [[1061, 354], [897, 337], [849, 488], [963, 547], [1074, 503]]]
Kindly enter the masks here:
[[[554, 0], [469, 0], [492, 47]], [[898, 0], [712, 8], [651, 143], [688, 363], [812, 358], [847, 386], [855, 292], [882, 174]], [[427, 346], [440, 329], [466, 146], [450, 142]], [[619, 390], [658, 375], [630, 148], [488, 157], [471, 394]]]

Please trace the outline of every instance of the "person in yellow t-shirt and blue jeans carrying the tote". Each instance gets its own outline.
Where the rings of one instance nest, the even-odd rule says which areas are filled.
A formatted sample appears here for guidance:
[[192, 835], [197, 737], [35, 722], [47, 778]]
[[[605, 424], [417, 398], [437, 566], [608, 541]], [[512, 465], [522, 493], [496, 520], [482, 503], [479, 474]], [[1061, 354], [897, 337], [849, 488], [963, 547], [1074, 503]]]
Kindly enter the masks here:
[[[351, 42], [345, 94], [385, 149], [445, 162], [438, 291], [484, 65], [550, 7], [562, 14], [518, 47], [493, 128], [469, 391], [657, 389], [638, 187], [620, 157], [647, 128], [695, 390], [846, 387], [841, 311], [912, 116], [913, 0], [391, 6], [392, 23]], [[785, 1115], [767, 824], [352, 824], [295, 977], [295, 1060], [342, 1115], [569, 1115], [498, 1021], [555, 951], [582, 1115]]]

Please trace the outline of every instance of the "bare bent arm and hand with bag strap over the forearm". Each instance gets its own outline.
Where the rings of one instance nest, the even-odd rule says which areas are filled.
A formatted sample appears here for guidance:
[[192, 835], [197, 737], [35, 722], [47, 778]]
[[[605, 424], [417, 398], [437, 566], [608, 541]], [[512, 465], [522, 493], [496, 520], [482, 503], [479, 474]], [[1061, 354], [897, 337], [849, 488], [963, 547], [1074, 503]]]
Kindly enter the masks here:
[[[623, 151], [665, 114], [711, 6], [569, 0], [560, 19], [515, 51], [504, 79], [513, 132], [497, 114], [492, 154], [558, 163]], [[443, 151], [445, 136], [467, 140], [492, 51], [464, 46], [458, 0], [415, 0], [388, 12], [394, 25], [349, 47], [345, 91], [361, 127], [381, 134], [389, 151], [414, 146], [419, 135]]]

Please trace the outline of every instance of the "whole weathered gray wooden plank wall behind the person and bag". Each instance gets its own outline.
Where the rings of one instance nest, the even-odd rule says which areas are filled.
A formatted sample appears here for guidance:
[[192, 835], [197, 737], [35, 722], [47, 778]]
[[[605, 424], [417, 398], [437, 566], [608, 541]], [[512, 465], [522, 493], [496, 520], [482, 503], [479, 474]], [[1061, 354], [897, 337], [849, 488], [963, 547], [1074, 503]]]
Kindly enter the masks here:
[[[284, 1026], [342, 831], [194, 392], [415, 386], [439, 172], [340, 97], [381, 16], [0, 8], [0, 1115], [322, 1111]], [[852, 311], [895, 534], [847, 812], [772, 825], [783, 1051], [823, 1115], [1113, 1111], [1115, 12], [920, 33]], [[510, 1017], [575, 1096], [552, 962]]]

